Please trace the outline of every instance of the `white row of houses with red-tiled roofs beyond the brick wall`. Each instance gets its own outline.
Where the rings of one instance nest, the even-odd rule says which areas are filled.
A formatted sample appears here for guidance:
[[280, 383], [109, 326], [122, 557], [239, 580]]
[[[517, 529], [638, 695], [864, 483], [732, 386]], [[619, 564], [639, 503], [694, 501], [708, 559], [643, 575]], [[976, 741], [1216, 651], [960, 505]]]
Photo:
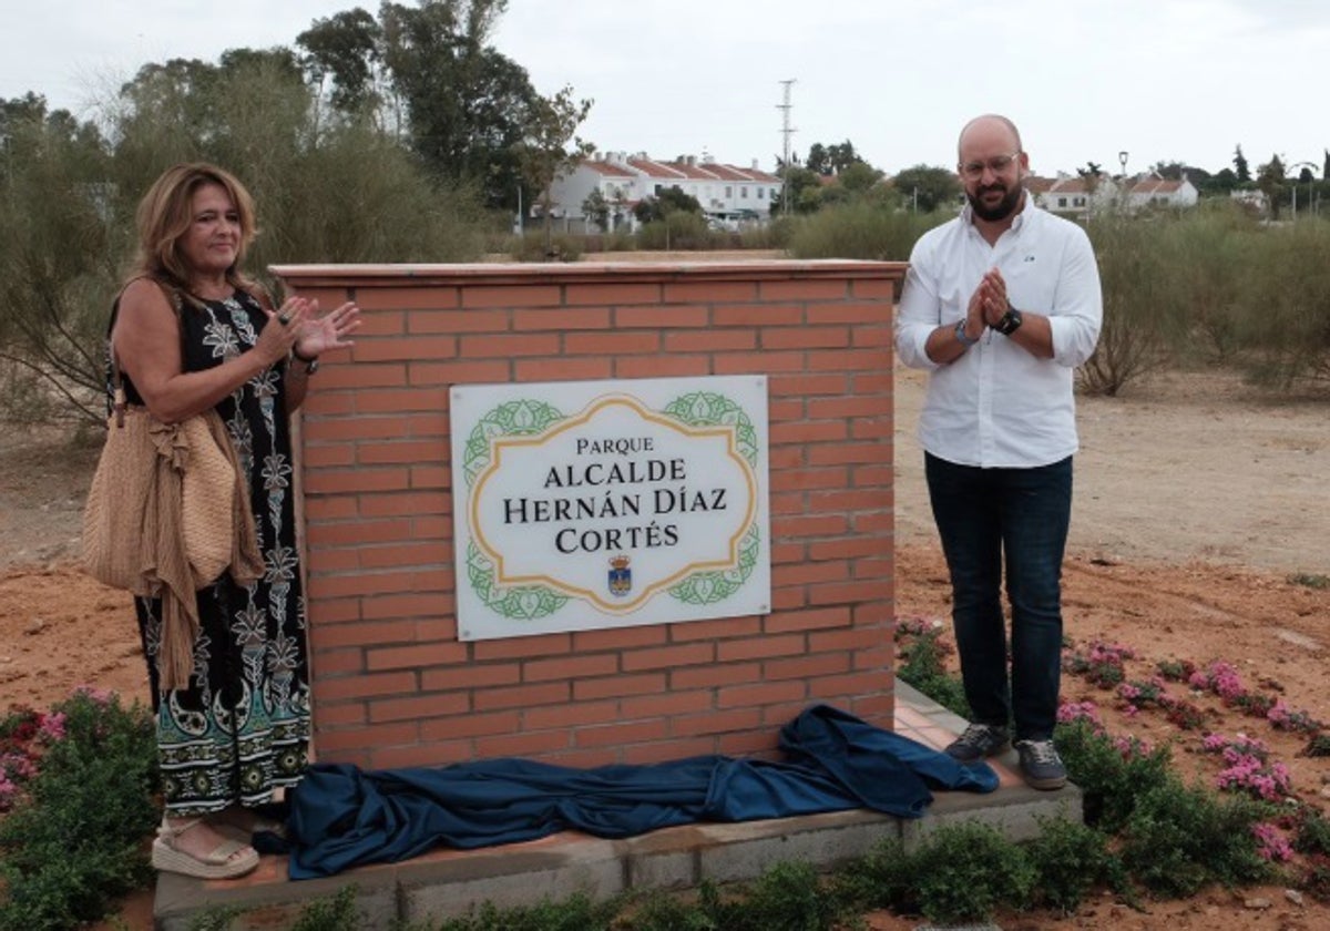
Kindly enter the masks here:
[[633, 231], [637, 229], [633, 207], [640, 201], [678, 188], [697, 200], [713, 226], [737, 229], [742, 222], [766, 222], [771, 205], [781, 200], [782, 186], [781, 178], [761, 170], [755, 160], [751, 168], [737, 168], [706, 154], [662, 162], [645, 152], [632, 156], [610, 152], [559, 174], [549, 186], [549, 200], [560, 229], [595, 233], [597, 223], [587, 215], [585, 203], [598, 190], [609, 207], [606, 226]]

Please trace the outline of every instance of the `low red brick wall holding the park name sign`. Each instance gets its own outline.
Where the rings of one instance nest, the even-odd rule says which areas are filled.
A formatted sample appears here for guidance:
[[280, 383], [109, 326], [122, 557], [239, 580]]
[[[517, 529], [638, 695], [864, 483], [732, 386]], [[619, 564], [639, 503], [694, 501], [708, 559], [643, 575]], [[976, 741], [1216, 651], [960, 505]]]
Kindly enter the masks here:
[[[903, 265], [274, 271], [364, 321], [299, 424], [319, 759], [767, 754], [813, 702], [891, 726]], [[770, 614], [458, 641], [450, 386], [743, 372], [770, 391]]]

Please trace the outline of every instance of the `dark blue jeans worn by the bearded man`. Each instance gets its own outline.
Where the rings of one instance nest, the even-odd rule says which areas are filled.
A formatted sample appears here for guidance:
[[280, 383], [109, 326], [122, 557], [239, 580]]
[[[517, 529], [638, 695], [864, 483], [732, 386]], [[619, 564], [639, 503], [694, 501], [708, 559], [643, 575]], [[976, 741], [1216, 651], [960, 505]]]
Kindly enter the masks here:
[[[951, 617], [975, 721], [1005, 726], [1015, 718], [1016, 739], [1048, 739], [1061, 680], [1072, 459], [1037, 468], [976, 468], [924, 454], [924, 475], [951, 571]], [[1004, 556], [1012, 617], [1009, 700]]]

